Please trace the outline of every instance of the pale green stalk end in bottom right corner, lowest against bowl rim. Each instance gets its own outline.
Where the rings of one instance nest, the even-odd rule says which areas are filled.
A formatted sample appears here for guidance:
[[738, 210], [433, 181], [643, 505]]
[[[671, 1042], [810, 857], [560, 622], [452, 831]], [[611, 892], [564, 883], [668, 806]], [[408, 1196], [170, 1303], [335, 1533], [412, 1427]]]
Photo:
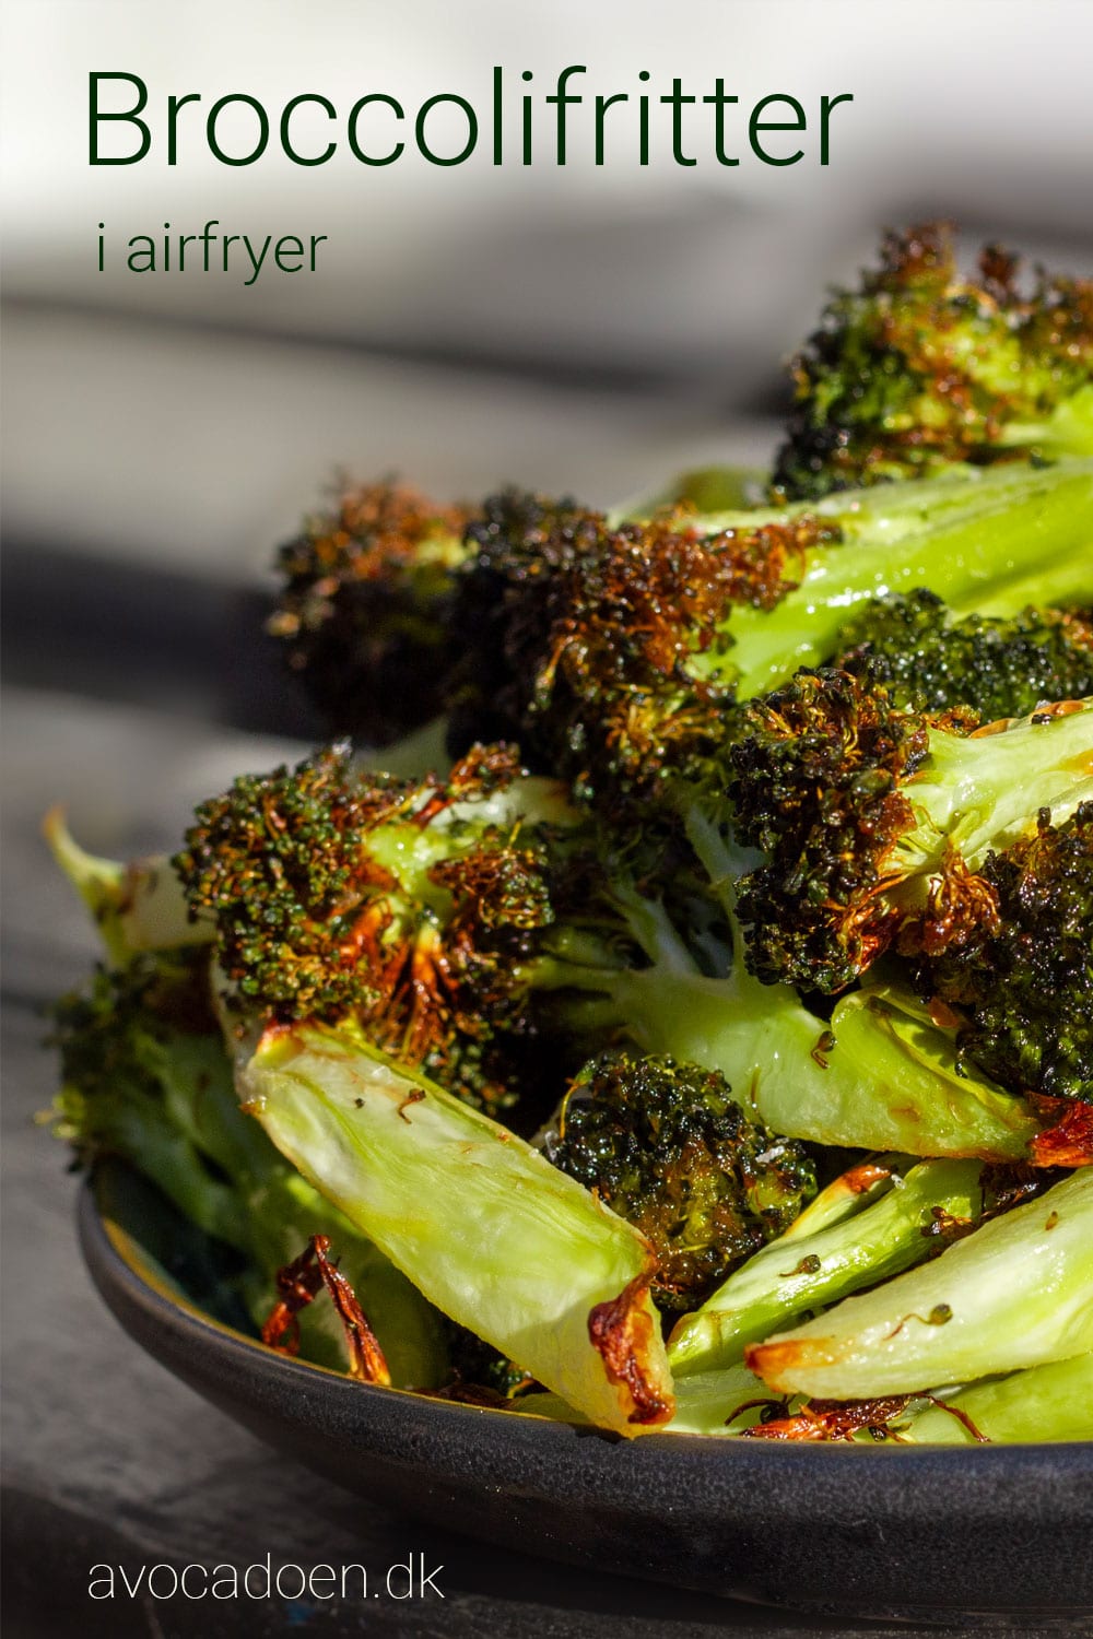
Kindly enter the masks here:
[[914, 1410], [901, 1439], [911, 1446], [970, 1446], [972, 1429], [998, 1442], [1093, 1439], [1093, 1354], [1031, 1365], [939, 1398], [942, 1405], [927, 1401]]

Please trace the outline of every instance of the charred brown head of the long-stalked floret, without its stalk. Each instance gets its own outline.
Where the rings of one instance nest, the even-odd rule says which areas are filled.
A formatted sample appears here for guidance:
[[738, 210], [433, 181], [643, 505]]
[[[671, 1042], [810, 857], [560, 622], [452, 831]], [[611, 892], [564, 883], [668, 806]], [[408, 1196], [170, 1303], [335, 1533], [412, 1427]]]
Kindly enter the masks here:
[[770, 608], [806, 547], [837, 538], [808, 515], [710, 531], [675, 508], [611, 526], [565, 500], [492, 497], [469, 528], [456, 698], [500, 711], [578, 788], [647, 793], [721, 736], [734, 605]]

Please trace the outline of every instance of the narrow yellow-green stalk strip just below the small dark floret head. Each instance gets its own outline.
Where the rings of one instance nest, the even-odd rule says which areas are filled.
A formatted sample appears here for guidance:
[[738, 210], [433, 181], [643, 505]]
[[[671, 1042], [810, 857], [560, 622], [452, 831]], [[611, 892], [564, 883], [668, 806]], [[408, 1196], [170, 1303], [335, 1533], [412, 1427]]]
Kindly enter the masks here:
[[672, 1370], [736, 1365], [747, 1344], [778, 1324], [921, 1264], [950, 1219], [978, 1221], [980, 1175], [977, 1160], [924, 1160], [905, 1177], [890, 1174], [887, 1193], [860, 1211], [772, 1241], [677, 1324], [669, 1339]]

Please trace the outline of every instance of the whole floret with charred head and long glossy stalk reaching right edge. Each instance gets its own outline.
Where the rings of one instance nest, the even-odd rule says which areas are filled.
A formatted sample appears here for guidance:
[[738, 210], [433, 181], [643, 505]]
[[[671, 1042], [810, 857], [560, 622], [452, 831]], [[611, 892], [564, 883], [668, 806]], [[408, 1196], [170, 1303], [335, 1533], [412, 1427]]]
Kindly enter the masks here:
[[505, 493], [469, 529], [457, 697], [618, 821], [665, 783], [710, 783], [734, 701], [831, 659], [878, 588], [931, 585], [957, 615], [1073, 602], [1090, 538], [1080, 462], [718, 518], [613, 523]]

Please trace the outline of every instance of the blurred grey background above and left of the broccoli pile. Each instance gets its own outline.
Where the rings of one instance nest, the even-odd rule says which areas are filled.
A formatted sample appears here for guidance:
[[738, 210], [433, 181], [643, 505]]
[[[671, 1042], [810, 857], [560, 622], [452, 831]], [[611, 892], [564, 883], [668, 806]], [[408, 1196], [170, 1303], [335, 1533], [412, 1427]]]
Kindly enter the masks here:
[[[482, 110], [493, 66], [516, 90], [531, 69], [544, 93], [570, 62], [587, 92], [636, 92], [647, 69], [654, 92], [678, 75], [703, 95], [723, 75], [742, 108], [770, 92], [810, 113], [821, 93], [854, 103], [828, 167], [808, 139], [793, 167], [724, 169], [708, 138], [678, 167], [664, 123], [647, 167], [610, 143], [596, 167], [587, 103], [564, 169], [546, 146], [528, 169], [493, 167], [485, 136], [451, 169], [344, 151], [300, 169], [275, 144], [228, 167], [185, 115], [166, 159], [170, 93], [208, 108], [247, 92], [277, 111], [318, 92], [344, 113], [370, 90], [408, 108], [457, 92]], [[8, 1282], [5, 1328], [23, 1498], [80, 1531], [120, 1511], [182, 1549], [179, 1500], [208, 1496], [246, 1442], [211, 1414], [195, 1429], [185, 1392], [115, 1334], [79, 1270], [62, 1160], [29, 1123], [54, 1074], [36, 1008], [93, 951], [44, 857], [43, 810], [64, 800], [103, 852], [170, 846], [195, 798], [316, 733], [262, 616], [277, 543], [338, 470], [442, 500], [513, 480], [606, 505], [682, 465], [769, 459], [785, 359], [887, 225], [949, 216], [967, 244], [1091, 274], [1090, 62], [1088, 0], [7, 0], [5, 1211], [38, 1277], [31, 1293]], [[88, 167], [92, 70], [146, 80], [141, 164]], [[125, 270], [129, 236], [210, 218], [326, 234], [318, 269], [249, 288]], [[156, 1464], [141, 1406], [157, 1408]], [[21, 1631], [52, 1632], [34, 1609]]]

